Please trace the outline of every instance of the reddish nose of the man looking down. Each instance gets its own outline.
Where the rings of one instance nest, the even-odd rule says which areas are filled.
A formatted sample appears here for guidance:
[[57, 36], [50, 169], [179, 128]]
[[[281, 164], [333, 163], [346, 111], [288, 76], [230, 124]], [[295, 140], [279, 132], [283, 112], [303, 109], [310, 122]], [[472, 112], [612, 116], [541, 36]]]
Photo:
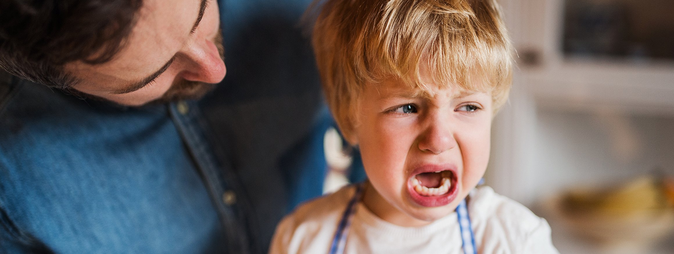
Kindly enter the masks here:
[[218, 47], [212, 40], [197, 39], [183, 50], [185, 70], [183, 79], [204, 83], [220, 83], [227, 72]]

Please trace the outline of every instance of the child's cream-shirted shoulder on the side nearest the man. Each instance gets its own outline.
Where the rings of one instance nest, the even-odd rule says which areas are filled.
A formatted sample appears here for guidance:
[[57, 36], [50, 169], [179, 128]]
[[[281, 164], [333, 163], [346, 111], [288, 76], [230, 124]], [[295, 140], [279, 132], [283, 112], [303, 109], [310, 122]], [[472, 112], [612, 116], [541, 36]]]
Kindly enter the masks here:
[[276, 227], [270, 253], [326, 252], [355, 185], [305, 202]]

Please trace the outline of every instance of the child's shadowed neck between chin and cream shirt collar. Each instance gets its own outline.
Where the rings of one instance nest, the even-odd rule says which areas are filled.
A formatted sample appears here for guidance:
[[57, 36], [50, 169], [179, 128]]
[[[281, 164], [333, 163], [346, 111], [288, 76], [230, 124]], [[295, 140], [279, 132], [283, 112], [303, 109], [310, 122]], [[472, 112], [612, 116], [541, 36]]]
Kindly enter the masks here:
[[400, 212], [398, 208], [395, 208], [389, 204], [389, 202], [384, 200], [384, 198], [379, 195], [379, 192], [372, 187], [369, 181], [365, 182], [364, 187], [363, 204], [365, 204], [365, 207], [367, 207], [370, 212], [382, 220], [386, 220], [387, 222], [391, 222], [398, 226], [425, 226], [431, 223]]

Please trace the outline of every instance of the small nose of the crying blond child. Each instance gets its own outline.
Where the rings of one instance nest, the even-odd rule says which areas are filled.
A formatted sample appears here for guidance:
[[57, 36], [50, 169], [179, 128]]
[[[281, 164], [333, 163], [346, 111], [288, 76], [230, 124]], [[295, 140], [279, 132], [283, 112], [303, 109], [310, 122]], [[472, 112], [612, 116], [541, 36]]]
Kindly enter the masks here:
[[428, 116], [425, 122], [425, 128], [419, 136], [419, 150], [439, 155], [456, 146], [450, 119], [435, 114]]

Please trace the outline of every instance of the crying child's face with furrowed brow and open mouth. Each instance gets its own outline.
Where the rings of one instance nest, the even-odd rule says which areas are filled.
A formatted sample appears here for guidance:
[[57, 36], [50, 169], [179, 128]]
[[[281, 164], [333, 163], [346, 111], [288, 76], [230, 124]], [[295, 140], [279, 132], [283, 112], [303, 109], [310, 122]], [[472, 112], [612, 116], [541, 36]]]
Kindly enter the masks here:
[[363, 201], [384, 220], [418, 226], [446, 216], [485, 173], [491, 95], [455, 87], [430, 97], [390, 79], [361, 94], [355, 135], [376, 189]]

